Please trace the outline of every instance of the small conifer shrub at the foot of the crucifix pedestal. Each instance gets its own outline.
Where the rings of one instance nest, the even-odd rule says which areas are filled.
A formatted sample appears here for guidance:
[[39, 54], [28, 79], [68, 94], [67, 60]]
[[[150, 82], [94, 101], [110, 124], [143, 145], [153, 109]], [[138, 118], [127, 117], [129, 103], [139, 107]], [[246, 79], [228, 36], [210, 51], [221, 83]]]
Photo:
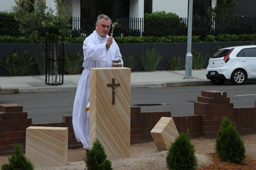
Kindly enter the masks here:
[[99, 139], [94, 139], [93, 147], [86, 150], [84, 162], [87, 170], [113, 170], [112, 162], [107, 159], [107, 154]]

